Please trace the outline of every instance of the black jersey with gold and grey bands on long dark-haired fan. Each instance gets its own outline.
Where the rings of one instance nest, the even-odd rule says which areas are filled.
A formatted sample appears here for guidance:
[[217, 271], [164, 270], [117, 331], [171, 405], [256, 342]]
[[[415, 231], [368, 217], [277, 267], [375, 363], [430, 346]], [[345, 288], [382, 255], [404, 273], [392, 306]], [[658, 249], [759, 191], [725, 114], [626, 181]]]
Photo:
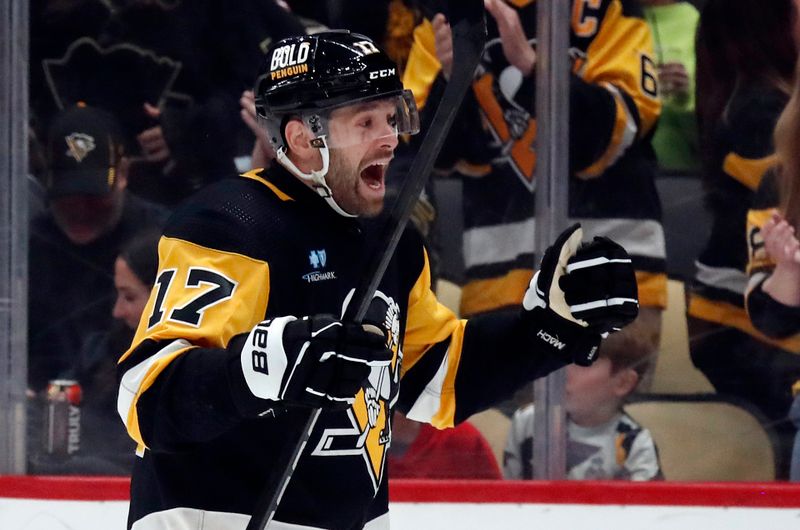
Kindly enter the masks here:
[[704, 176], [712, 224], [697, 259], [688, 308], [695, 318], [737, 328], [765, 342], [769, 339], [753, 327], [745, 310], [747, 268], [750, 261], [754, 281], [764, 279], [761, 273], [768, 264], [760, 227], [777, 196], [765, 188], [758, 203], [754, 201], [762, 177], [775, 164], [772, 131], [787, 100], [784, 92], [766, 83], [742, 85], [712, 131], [710, 169]]

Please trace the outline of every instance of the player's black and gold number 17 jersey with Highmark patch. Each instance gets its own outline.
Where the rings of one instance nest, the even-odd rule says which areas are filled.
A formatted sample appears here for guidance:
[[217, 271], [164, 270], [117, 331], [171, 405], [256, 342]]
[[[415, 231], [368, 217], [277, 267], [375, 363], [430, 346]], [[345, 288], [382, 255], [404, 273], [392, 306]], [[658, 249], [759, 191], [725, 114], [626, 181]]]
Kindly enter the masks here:
[[[367, 258], [385, 244], [380, 232], [336, 214], [280, 166], [214, 184], [176, 211], [119, 363], [118, 410], [140, 457], [129, 527], [244, 528], [308, 409], [250, 394], [232, 339], [265, 318], [341, 316]], [[394, 360], [373, 368], [349, 410], [321, 414], [271, 529], [388, 528], [395, 407], [451, 427], [566, 364], [527, 347], [518, 312], [466, 321], [439, 304], [412, 231], [367, 318], [383, 323]]]

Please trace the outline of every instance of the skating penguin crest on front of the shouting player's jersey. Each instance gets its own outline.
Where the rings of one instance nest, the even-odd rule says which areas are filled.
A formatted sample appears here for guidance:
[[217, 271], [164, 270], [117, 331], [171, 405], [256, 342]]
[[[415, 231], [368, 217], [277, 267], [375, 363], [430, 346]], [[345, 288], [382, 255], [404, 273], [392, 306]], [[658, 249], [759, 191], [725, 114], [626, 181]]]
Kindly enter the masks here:
[[386, 345], [394, 352], [392, 363], [372, 368], [364, 387], [356, 395], [355, 403], [347, 411], [350, 427], [325, 429], [311, 454], [321, 457], [361, 456], [365, 471], [377, 491], [383, 480], [386, 452], [392, 439], [391, 408], [397, 401], [400, 385], [403, 359], [400, 306], [392, 297], [378, 291], [364, 320], [380, 322], [387, 332]]

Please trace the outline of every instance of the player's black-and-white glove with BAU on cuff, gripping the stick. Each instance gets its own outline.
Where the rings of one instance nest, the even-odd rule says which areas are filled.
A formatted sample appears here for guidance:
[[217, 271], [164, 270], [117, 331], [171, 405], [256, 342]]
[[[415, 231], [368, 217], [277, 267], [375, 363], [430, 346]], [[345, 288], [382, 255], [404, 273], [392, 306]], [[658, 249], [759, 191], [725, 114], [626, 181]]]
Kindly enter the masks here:
[[291, 405], [346, 409], [373, 366], [393, 353], [375, 326], [341, 322], [332, 315], [265, 320], [242, 346], [241, 367], [250, 392]]

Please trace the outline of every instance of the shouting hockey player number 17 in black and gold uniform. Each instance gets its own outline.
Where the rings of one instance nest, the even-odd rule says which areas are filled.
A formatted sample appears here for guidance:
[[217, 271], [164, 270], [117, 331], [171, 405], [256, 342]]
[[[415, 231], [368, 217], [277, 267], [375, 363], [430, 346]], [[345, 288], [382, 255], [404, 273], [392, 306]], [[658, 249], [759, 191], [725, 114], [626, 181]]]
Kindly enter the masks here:
[[[573, 227], [522, 308], [459, 320], [407, 231], [365, 319], [373, 331], [343, 322], [382, 244], [368, 218], [398, 134], [417, 130], [413, 97], [371, 40], [346, 31], [275, 43], [255, 94], [277, 163], [174, 214], [119, 363], [118, 408], [140, 456], [128, 524], [245, 528], [286, 465], [285, 438], [321, 407], [269, 528], [388, 528], [392, 411], [452, 427], [526, 381], [590, 364], [601, 333], [635, 318], [633, 269], [610, 240], [578, 248]], [[501, 354], [487, 362], [490, 346]]]

